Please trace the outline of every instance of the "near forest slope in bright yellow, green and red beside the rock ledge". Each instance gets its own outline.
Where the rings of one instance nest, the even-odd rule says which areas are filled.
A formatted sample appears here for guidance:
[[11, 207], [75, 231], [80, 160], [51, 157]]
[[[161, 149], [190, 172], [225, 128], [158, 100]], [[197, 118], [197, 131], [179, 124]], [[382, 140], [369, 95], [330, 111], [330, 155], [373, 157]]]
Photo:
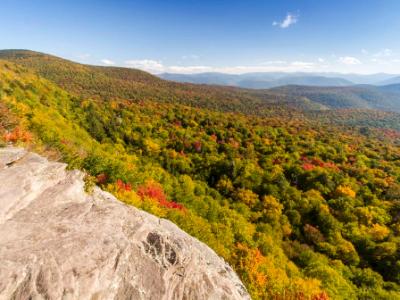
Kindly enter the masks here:
[[253, 299], [400, 299], [392, 135], [86, 98], [22, 65], [0, 62], [2, 142], [86, 170], [88, 186], [173, 221], [228, 261]]

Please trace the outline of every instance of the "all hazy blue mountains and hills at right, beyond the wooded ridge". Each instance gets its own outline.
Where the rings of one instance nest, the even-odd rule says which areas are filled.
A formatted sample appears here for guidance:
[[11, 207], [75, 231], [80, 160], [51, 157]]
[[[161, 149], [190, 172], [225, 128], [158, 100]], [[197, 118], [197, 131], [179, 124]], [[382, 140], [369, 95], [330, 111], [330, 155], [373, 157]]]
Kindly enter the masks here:
[[400, 76], [340, 73], [223, 73], [159, 75], [163, 79], [228, 85], [252, 89], [255, 94], [276, 95], [305, 110], [378, 109], [400, 112]]

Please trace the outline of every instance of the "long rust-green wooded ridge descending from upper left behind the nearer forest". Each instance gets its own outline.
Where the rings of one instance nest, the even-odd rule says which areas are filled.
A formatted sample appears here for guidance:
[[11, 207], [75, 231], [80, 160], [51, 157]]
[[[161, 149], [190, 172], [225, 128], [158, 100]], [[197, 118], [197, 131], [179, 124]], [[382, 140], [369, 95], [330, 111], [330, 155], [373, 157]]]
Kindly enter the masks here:
[[0, 50], [0, 59], [34, 70], [79, 97], [152, 100], [255, 114], [279, 110], [274, 106], [277, 97], [269, 97], [268, 93], [263, 93], [260, 100], [246, 90], [174, 83], [140, 70], [82, 65], [29, 50]]

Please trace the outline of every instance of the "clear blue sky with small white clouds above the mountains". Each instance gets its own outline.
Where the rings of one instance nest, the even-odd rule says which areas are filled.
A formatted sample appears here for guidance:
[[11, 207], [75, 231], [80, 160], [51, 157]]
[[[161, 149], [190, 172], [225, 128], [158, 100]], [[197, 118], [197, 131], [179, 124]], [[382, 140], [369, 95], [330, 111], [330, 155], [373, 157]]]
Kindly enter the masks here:
[[153, 73], [400, 73], [398, 0], [2, 0], [0, 48]]

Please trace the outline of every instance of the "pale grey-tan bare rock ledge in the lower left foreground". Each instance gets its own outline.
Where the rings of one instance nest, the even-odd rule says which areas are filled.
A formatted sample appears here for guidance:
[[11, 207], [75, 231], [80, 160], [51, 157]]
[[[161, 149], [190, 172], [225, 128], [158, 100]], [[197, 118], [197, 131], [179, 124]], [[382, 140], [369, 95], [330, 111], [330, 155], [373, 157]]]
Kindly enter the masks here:
[[250, 299], [223, 259], [83, 173], [0, 148], [0, 299]]

